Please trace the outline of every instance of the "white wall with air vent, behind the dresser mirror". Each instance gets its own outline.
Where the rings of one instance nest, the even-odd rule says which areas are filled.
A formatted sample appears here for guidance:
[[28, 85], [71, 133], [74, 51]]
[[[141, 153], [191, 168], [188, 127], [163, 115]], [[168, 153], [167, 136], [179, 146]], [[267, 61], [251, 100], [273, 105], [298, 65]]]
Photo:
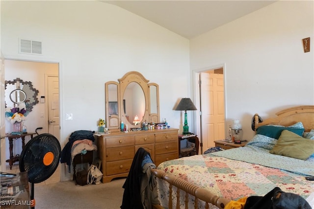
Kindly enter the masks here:
[[[173, 108], [179, 98], [190, 96], [187, 39], [100, 1], [0, 4], [5, 58], [60, 63], [62, 147], [73, 131], [97, 129], [97, 120], [105, 118], [105, 82], [132, 70], [159, 85], [160, 118], [171, 127], [182, 126]], [[19, 54], [19, 38], [42, 41], [43, 55]], [[64, 120], [66, 113], [74, 119]]]

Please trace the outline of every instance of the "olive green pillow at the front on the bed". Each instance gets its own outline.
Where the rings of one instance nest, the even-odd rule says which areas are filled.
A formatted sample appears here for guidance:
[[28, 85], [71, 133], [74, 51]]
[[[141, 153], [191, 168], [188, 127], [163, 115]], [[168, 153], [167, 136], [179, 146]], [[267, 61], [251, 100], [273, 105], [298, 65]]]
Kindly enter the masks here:
[[314, 140], [304, 139], [297, 134], [284, 130], [269, 153], [306, 160], [314, 153]]

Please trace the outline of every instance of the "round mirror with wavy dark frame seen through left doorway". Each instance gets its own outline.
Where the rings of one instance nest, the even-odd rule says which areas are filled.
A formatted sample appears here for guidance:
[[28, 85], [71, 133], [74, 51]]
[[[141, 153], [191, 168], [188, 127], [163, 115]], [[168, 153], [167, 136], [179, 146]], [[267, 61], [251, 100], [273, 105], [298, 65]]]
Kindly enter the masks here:
[[13, 81], [5, 81], [5, 107], [25, 106], [27, 112], [39, 102], [38, 90], [33, 88], [30, 81], [23, 81], [20, 78]]

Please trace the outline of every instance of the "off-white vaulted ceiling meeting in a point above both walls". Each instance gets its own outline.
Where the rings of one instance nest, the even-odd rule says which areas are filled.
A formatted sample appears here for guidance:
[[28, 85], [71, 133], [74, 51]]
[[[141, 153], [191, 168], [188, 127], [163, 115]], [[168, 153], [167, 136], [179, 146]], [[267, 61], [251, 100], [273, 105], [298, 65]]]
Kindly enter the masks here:
[[102, 0], [157, 23], [187, 39], [277, 0]]

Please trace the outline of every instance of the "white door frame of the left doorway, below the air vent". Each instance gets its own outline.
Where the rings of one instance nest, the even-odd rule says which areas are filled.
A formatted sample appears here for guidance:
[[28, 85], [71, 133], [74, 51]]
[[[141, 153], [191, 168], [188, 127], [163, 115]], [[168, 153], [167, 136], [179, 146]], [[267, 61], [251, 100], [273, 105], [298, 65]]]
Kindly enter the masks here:
[[[29, 61], [29, 62], [41, 62], [41, 63], [56, 63], [58, 64], [58, 77], [59, 77], [59, 124], [60, 124], [60, 138], [62, 138], [62, 121], [63, 121], [63, 114], [62, 114], [62, 106], [60, 104], [62, 104], [62, 62], [60, 60], [46, 60], [46, 59], [38, 59], [38, 58], [29, 58], [29, 57], [25, 57], [25, 56], [5, 56], [3, 55], [4, 58], [4, 62], [5, 60], [16, 60], [16, 61]], [[4, 65], [4, 73], [5, 73], [5, 65]], [[61, 143], [61, 141], [60, 141]], [[1, 155], [2, 153], [4, 153], [4, 156], [6, 155], [6, 150], [5, 150], [5, 146], [4, 148], [1, 148]], [[1, 159], [2, 160], [2, 159]], [[4, 164], [5, 165], [5, 164]], [[1, 164], [2, 166], [2, 164]], [[60, 170], [60, 179], [61, 181], [65, 179], [65, 173], [66, 173], [66, 169], [64, 168], [64, 166], [61, 166], [61, 170]], [[64, 175], [62, 175], [64, 174]]]

